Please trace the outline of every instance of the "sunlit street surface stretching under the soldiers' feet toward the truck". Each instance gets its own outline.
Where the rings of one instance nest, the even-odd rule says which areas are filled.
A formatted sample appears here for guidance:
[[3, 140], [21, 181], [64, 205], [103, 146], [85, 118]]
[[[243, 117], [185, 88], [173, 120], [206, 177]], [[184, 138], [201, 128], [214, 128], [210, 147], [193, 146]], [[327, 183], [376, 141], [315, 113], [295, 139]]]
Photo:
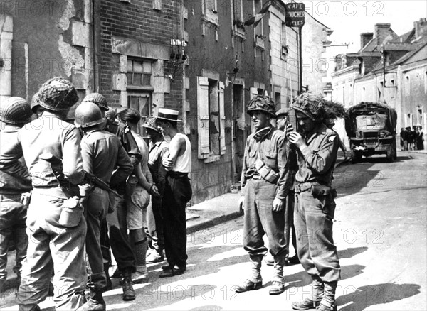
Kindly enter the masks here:
[[[394, 163], [376, 156], [336, 168], [339, 310], [427, 310], [426, 158], [399, 151]], [[107, 310], [291, 310], [292, 301], [307, 297], [310, 278], [300, 265], [285, 267], [282, 295], [268, 295], [273, 268], [265, 265], [262, 289], [234, 293], [249, 273], [238, 197], [227, 194], [189, 207], [186, 273], [159, 278], [162, 263], [149, 265], [150, 282], [135, 285], [132, 302], [122, 301], [113, 279], [115, 289], [105, 293]], [[1, 295], [2, 311], [17, 310], [14, 294], [10, 289]], [[53, 299], [41, 307], [53, 310]]]

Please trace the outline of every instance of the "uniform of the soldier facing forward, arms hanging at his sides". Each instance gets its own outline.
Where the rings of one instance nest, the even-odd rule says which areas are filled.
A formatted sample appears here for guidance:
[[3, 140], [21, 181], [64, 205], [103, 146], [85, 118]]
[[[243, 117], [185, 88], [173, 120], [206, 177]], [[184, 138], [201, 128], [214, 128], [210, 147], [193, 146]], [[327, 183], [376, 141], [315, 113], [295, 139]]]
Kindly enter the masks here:
[[[243, 246], [248, 251], [253, 264], [251, 281], [260, 282], [261, 261], [267, 248], [263, 235], [268, 236], [268, 249], [275, 258], [273, 280], [283, 283], [283, 265], [286, 255], [285, 209], [273, 212], [273, 200], [285, 200], [290, 188], [288, 170], [285, 169], [286, 153], [283, 131], [268, 127], [248, 136], [243, 158], [242, 186], [245, 197]], [[256, 160], [278, 173], [278, 180], [268, 182], [255, 169]]]

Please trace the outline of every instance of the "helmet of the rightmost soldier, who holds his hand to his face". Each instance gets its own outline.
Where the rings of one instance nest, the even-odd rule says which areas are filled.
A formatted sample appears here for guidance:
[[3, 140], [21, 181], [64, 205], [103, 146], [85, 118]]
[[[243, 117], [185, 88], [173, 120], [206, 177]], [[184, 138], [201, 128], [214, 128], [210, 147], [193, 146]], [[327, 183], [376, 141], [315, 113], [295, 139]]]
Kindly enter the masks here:
[[313, 121], [325, 116], [325, 100], [322, 96], [310, 92], [302, 93], [295, 98], [290, 108], [300, 111]]

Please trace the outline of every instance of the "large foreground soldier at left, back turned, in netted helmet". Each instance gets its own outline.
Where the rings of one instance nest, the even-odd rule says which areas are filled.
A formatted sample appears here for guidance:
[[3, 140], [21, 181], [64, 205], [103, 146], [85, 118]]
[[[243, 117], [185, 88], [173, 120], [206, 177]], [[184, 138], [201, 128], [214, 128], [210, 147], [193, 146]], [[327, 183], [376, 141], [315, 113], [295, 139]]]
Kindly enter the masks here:
[[[54, 77], [41, 86], [39, 99], [43, 115], [20, 129], [16, 140], [2, 146], [0, 154], [0, 170], [20, 178], [28, 178], [29, 171], [33, 183], [19, 310], [39, 310], [38, 302], [48, 295], [52, 270], [56, 310], [76, 310], [83, 305], [88, 278], [84, 261], [86, 222], [77, 197], [77, 185], [85, 173], [80, 133], [63, 120], [78, 95], [68, 80]], [[42, 153], [62, 160], [64, 179], [40, 158]], [[28, 171], [19, 162], [22, 156]]]

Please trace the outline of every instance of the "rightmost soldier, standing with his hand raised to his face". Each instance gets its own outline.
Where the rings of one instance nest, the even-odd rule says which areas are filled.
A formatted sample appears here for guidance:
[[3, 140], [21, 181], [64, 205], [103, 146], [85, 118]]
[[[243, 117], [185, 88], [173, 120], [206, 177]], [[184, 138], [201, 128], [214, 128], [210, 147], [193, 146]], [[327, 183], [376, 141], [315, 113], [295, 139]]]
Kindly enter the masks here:
[[[341, 268], [332, 239], [334, 193], [331, 191], [337, 160], [337, 133], [323, 123], [323, 99], [301, 94], [291, 108], [296, 111], [299, 129], [288, 126], [289, 141], [297, 148], [295, 175], [295, 230], [302, 266], [312, 277], [310, 298], [293, 302], [295, 310], [337, 310], [335, 290]], [[313, 236], [314, 234], [314, 236]]]

